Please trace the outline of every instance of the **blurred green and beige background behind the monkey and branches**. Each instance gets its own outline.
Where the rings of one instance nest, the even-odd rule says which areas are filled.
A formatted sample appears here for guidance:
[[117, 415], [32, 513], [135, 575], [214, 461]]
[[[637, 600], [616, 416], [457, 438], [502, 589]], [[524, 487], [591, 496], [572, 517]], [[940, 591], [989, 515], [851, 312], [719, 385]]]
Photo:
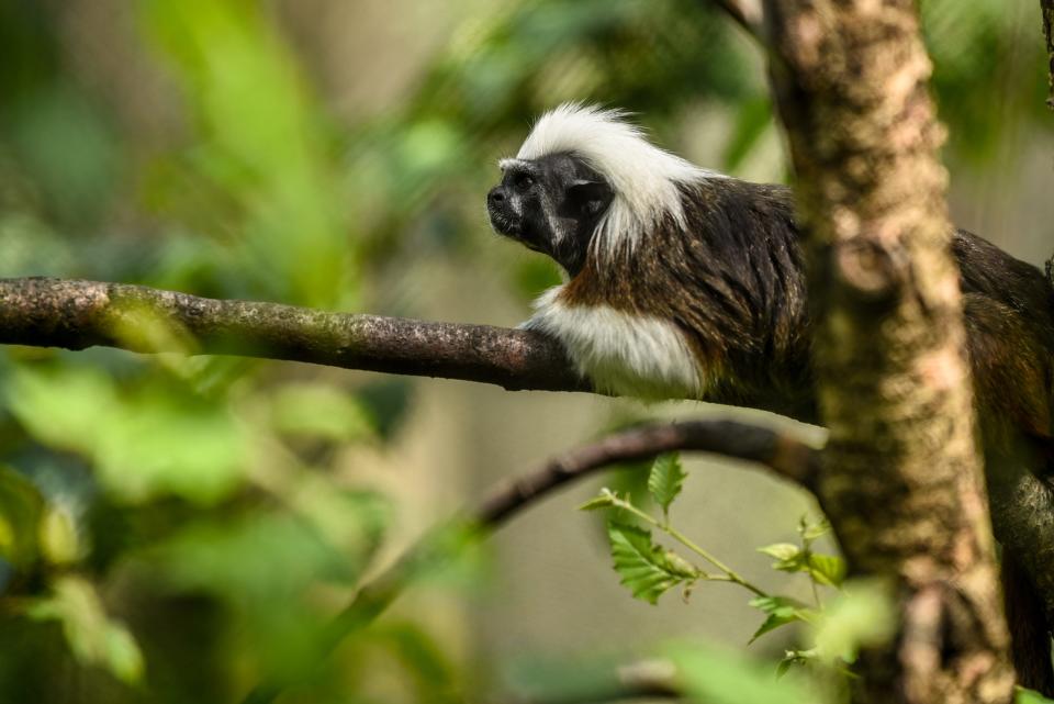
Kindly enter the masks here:
[[[921, 5], [953, 217], [1041, 264], [1038, 8]], [[786, 180], [762, 57], [702, 0], [0, 0], [0, 276], [514, 325], [559, 276], [490, 233], [483, 197], [565, 100]], [[540, 701], [673, 638], [745, 647], [761, 621], [728, 584], [629, 597], [573, 511], [621, 471], [304, 662], [365, 577], [500, 479], [642, 418], [742, 412], [109, 349], [8, 348], [0, 402], [3, 702], [225, 703], [264, 675], [301, 681], [288, 702]], [[754, 550], [794, 538], [806, 498], [687, 467], [675, 523], [807, 591]]]

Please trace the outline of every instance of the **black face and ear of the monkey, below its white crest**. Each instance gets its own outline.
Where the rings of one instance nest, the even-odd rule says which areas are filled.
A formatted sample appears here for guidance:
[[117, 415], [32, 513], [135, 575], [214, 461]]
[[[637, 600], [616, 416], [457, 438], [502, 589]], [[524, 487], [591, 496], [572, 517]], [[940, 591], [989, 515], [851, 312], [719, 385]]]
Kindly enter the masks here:
[[486, 195], [491, 225], [576, 275], [593, 231], [615, 195], [612, 188], [570, 154], [508, 159], [502, 171], [502, 182]]

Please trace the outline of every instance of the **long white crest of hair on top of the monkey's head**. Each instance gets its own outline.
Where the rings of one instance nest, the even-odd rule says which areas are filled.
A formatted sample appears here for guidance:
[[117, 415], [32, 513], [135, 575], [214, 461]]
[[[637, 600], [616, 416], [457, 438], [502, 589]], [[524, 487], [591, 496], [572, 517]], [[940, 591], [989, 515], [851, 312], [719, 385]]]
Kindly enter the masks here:
[[624, 246], [631, 253], [664, 215], [684, 227], [679, 185], [721, 176], [654, 146], [626, 118], [620, 110], [564, 103], [538, 120], [516, 155], [574, 154], [607, 179], [615, 198], [591, 246], [609, 257]]

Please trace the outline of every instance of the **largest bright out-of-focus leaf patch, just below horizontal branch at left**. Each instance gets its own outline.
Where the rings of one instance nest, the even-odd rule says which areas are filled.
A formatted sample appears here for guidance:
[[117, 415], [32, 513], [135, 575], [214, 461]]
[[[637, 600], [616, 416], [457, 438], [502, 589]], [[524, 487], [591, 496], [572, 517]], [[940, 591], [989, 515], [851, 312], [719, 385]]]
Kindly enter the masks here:
[[125, 501], [173, 493], [215, 503], [239, 485], [249, 459], [248, 428], [229, 407], [164, 378], [123, 389], [91, 368], [23, 366], [7, 400], [34, 437], [85, 456]]

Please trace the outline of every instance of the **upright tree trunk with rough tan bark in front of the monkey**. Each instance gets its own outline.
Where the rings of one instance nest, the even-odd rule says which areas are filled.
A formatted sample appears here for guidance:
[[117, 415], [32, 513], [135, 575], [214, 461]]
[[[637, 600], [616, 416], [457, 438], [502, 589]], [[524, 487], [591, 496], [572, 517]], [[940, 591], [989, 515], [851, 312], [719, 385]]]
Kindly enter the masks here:
[[767, 0], [808, 232], [819, 494], [856, 574], [892, 577], [895, 648], [860, 702], [1002, 703], [1009, 638], [948, 250], [943, 134], [910, 0]]

